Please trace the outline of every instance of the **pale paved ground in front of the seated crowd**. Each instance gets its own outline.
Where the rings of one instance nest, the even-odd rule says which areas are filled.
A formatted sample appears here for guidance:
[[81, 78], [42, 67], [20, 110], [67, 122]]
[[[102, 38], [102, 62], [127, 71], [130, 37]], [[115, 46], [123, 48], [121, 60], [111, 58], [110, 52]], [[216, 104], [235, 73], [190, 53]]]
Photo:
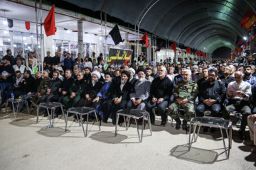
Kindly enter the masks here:
[[119, 127], [114, 137], [112, 124], [102, 123], [99, 131], [90, 123], [84, 137], [73, 121], [65, 132], [63, 119], [55, 119], [55, 128], [43, 129], [49, 125], [47, 118], [36, 124], [33, 115], [16, 120], [12, 113], [0, 116], [0, 169], [256, 169], [253, 147], [239, 140], [236, 130], [230, 159], [225, 159], [219, 132], [201, 132], [188, 152], [188, 135], [170, 123], [153, 126], [152, 136], [146, 127], [139, 143], [134, 125], [127, 131]]

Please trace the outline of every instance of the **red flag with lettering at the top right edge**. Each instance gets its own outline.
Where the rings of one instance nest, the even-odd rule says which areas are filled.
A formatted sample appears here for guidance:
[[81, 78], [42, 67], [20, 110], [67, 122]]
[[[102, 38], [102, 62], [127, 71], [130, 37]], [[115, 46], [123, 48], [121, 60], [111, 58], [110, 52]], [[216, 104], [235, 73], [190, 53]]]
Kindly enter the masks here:
[[252, 27], [256, 23], [256, 14], [248, 9], [245, 13], [245, 16], [242, 17], [242, 21], [240, 23], [241, 28], [246, 28], [247, 30], [251, 30]]

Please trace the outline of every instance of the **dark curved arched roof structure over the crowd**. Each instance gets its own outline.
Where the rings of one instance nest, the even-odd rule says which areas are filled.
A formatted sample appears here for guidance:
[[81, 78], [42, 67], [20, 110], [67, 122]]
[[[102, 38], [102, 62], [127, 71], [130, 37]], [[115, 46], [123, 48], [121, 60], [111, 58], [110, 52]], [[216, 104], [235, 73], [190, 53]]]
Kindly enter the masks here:
[[[132, 24], [131, 28], [137, 25], [137, 21], [141, 21], [139, 28], [143, 30], [210, 53], [218, 47], [235, 49], [237, 35], [248, 35], [245, 28], [240, 28], [242, 16], [248, 8], [256, 8], [255, 0], [64, 1], [77, 6], [76, 12], [90, 15], [87, 12], [89, 10], [92, 11], [91, 16], [95, 17], [95, 13], [104, 11], [109, 18]], [[73, 11], [61, 3], [56, 3], [55, 6]]]

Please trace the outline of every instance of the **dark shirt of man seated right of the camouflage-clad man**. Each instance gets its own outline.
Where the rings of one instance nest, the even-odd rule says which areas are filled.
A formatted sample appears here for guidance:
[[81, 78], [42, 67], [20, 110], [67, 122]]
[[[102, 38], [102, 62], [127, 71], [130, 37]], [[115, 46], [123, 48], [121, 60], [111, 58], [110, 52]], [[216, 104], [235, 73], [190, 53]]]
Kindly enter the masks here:
[[226, 88], [221, 81], [215, 80], [214, 84], [210, 85], [210, 81], [203, 81], [199, 89], [198, 100], [203, 103], [206, 99], [215, 99], [217, 103], [223, 103], [225, 100]]

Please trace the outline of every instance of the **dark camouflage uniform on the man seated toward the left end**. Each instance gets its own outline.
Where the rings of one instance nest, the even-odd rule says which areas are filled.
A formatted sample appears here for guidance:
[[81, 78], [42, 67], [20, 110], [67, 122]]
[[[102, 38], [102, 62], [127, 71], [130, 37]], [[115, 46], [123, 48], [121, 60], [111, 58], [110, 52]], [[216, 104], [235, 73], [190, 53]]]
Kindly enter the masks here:
[[37, 89], [37, 93], [40, 93], [40, 96], [36, 96], [36, 95], [33, 95], [31, 96], [30, 100], [31, 102], [33, 103], [40, 103], [40, 98], [41, 96], [43, 96], [43, 94], [46, 94], [47, 90], [47, 85], [50, 83], [51, 79], [50, 77], [46, 77], [46, 79], [42, 79], [39, 86], [38, 86], [38, 89]]

